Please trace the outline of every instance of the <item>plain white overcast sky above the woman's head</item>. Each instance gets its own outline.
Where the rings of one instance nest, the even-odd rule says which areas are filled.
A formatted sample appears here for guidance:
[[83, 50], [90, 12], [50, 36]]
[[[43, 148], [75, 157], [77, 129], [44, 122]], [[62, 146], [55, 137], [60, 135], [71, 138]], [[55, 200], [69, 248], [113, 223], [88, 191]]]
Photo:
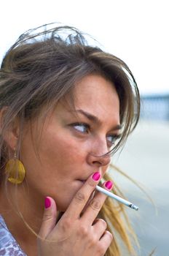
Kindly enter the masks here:
[[0, 60], [24, 31], [45, 23], [76, 26], [127, 63], [141, 94], [169, 93], [168, 0], [5, 0]]

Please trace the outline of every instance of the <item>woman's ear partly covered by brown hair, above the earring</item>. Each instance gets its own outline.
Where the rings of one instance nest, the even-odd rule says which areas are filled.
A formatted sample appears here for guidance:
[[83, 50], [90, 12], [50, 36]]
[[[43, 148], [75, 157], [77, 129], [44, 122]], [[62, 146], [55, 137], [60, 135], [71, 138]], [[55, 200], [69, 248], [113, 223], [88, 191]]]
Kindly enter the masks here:
[[12, 150], [15, 150], [17, 146], [17, 140], [20, 135], [19, 119], [15, 118], [12, 121], [8, 122], [9, 125], [5, 130], [3, 130], [5, 123], [7, 123], [7, 110], [7, 107], [4, 107], [0, 110], [0, 134], [3, 137], [4, 141], [7, 143], [7, 146], [9, 146], [9, 148], [11, 148]]

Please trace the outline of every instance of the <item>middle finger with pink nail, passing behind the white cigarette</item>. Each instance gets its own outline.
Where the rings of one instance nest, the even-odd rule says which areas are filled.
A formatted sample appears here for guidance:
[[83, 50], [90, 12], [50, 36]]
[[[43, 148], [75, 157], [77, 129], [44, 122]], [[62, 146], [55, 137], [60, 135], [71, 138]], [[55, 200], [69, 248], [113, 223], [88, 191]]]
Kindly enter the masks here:
[[[112, 181], [106, 181], [103, 184], [104, 189], [110, 190], [113, 187]], [[106, 200], [106, 195], [101, 192], [96, 192], [93, 200], [90, 201], [89, 206], [87, 206], [86, 211], [82, 215], [82, 219], [86, 225], [92, 225], [95, 218], [98, 216], [99, 211], [101, 211], [101, 207]]]

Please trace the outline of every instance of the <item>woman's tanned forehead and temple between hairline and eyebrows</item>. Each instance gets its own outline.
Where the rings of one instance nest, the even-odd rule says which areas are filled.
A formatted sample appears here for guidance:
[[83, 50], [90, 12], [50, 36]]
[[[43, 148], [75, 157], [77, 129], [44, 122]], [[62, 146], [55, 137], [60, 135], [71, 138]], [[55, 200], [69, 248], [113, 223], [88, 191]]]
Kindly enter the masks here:
[[76, 116], [76, 110], [82, 110], [77, 111], [78, 113], [86, 112], [88, 116], [95, 116], [99, 124], [106, 127], [117, 127], [120, 124], [117, 91], [111, 81], [100, 75], [84, 77], [76, 83], [70, 94], [66, 94], [66, 97], [46, 112], [47, 115], [42, 111], [42, 118], [36, 121], [43, 125], [50, 124], [53, 116], [57, 117], [57, 120], [70, 118], [70, 115]]

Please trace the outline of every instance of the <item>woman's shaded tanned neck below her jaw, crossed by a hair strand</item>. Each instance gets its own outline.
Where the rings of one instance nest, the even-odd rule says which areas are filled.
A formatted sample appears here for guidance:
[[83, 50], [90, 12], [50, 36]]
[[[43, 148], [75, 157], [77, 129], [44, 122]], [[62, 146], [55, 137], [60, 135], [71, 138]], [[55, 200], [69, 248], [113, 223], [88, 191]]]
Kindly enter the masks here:
[[0, 214], [17, 243], [27, 255], [37, 255], [36, 234], [42, 224], [44, 198], [25, 188], [9, 184], [0, 189]]

